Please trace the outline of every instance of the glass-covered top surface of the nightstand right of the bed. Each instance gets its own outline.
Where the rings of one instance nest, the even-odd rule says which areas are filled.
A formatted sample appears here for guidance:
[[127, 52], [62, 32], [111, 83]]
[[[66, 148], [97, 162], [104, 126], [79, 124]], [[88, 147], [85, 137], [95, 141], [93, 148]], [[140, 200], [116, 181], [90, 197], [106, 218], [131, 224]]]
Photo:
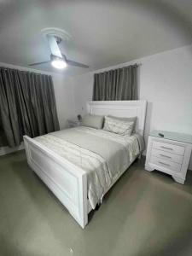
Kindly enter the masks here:
[[[163, 134], [164, 137], [161, 137], [159, 133]], [[154, 131], [151, 131], [149, 135], [152, 137], [159, 137], [159, 138], [164, 138], [172, 141], [192, 144], [192, 135], [190, 134], [184, 134], [184, 133], [178, 133], [178, 132], [172, 132], [172, 131], [154, 130]]]

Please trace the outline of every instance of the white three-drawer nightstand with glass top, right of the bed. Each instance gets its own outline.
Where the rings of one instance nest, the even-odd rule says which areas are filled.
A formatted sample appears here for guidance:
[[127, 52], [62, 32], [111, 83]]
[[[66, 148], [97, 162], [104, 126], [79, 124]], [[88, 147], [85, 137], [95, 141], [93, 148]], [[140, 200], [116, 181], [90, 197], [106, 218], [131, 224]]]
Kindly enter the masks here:
[[[164, 134], [160, 137], [159, 133]], [[189, 166], [192, 136], [171, 131], [152, 131], [148, 137], [145, 169], [172, 175], [183, 184]]]

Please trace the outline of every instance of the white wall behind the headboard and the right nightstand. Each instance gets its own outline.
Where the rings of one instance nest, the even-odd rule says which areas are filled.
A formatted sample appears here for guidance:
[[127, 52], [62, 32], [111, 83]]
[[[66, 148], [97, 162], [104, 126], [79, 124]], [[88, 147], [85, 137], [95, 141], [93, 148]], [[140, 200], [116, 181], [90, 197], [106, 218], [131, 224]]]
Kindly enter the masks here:
[[[192, 45], [115, 67], [135, 62], [142, 64], [138, 83], [140, 99], [148, 101], [146, 142], [149, 131], [154, 129], [192, 135]], [[114, 67], [97, 70], [96, 73], [111, 68]], [[85, 113], [85, 102], [91, 100], [93, 74], [86, 73], [71, 79], [76, 113]], [[192, 158], [189, 168], [192, 169]]]

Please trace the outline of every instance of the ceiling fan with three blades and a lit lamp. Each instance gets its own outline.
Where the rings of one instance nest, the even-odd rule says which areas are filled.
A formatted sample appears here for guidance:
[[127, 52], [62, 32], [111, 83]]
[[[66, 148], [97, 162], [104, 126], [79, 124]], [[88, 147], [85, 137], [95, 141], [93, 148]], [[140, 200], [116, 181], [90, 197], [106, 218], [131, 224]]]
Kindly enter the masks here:
[[51, 63], [51, 65], [53, 67], [58, 68], [58, 69], [63, 69], [65, 67], [67, 67], [67, 65], [73, 66], [73, 67], [83, 67], [83, 68], [89, 67], [83, 63], [69, 60], [69, 59], [67, 59], [66, 55], [61, 53], [59, 44], [61, 43], [62, 39], [60, 37], [57, 37], [57, 36], [51, 35], [51, 34], [47, 35], [46, 37], [48, 39], [49, 48], [51, 51], [50, 60], [32, 63], [32, 64], [29, 64], [29, 66], [36, 66], [36, 65], [42, 65], [45, 63]]

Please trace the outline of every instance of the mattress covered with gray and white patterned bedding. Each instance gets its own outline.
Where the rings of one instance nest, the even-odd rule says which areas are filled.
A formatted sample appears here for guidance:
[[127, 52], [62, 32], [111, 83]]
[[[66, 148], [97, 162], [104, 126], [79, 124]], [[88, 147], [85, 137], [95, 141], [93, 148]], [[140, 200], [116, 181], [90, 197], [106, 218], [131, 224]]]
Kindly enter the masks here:
[[143, 150], [143, 137], [121, 136], [89, 127], [55, 131], [34, 138], [87, 173], [87, 191], [94, 209], [104, 192]]

